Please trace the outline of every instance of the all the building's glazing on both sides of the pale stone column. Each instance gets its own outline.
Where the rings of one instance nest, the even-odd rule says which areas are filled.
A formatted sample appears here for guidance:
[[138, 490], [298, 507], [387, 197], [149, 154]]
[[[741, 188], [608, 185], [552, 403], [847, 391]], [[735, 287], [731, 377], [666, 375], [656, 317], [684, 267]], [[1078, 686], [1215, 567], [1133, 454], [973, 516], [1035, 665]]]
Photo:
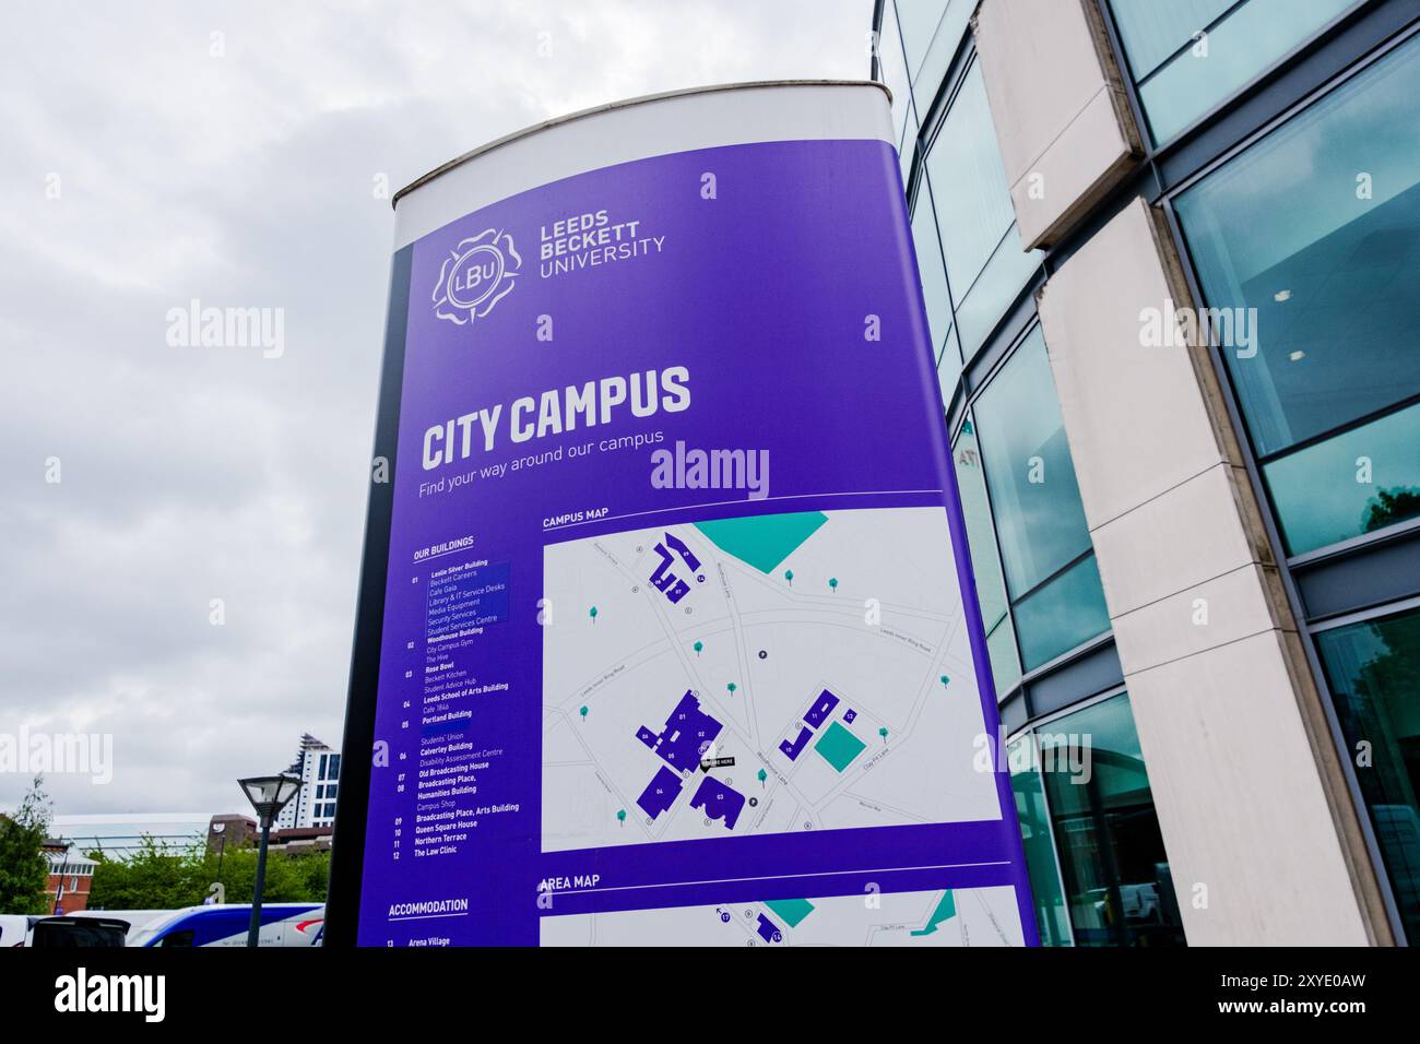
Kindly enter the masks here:
[[[1348, 744], [1340, 771], [1406, 942], [1420, 932], [1420, 13], [1386, 0], [1086, 4], [1142, 155], [1045, 251], [1021, 249], [968, 4], [878, 10], [902, 53], [896, 74], [888, 54], [876, 68], [895, 88], [1042, 939], [1184, 942], [1032, 298], [1056, 259], [1143, 196], [1214, 334], [1240, 482], [1261, 500], [1258, 540]], [[1034, 61], [1022, 51], [1012, 71], [1048, 89], [1048, 62]], [[1093, 734], [1095, 787], [1042, 764], [1047, 730]]]

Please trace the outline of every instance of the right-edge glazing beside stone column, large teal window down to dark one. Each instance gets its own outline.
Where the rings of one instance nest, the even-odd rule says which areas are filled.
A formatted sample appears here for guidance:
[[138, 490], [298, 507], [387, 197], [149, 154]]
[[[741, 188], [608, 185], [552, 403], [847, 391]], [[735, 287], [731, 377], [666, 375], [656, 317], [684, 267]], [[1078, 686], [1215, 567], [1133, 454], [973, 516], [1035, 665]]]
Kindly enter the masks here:
[[1203, 304], [1252, 328], [1217, 357], [1402, 942], [1420, 933], [1417, 126], [1411, 20], [1170, 197]]

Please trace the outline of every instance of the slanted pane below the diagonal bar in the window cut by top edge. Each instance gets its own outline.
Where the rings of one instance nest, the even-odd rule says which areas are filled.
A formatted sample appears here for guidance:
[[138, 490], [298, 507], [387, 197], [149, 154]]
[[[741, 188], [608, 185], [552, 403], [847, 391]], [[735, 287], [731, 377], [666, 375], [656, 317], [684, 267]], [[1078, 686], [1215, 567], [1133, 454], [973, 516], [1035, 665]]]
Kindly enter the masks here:
[[1359, 3], [1248, 0], [1208, 31], [1197, 53], [1180, 53], [1139, 88], [1153, 139], [1169, 141]]

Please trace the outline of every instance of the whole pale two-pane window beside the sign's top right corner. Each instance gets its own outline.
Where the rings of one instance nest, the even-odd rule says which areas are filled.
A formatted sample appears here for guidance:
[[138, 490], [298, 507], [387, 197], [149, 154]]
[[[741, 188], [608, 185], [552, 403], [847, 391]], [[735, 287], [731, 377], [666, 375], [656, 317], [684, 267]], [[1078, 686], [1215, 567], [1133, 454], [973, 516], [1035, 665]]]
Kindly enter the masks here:
[[973, 62], [927, 152], [947, 281], [970, 358], [1005, 312], [1039, 251], [1021, 250], [981, 68]]

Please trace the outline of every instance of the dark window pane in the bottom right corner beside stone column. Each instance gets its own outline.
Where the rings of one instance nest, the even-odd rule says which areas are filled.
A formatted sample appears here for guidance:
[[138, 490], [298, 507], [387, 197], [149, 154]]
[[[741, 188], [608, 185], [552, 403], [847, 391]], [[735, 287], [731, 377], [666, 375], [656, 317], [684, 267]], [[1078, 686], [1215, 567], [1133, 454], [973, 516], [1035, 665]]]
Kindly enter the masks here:
[[1420, 940], [1420, 612], [1316, 636], [1410, 945]]

